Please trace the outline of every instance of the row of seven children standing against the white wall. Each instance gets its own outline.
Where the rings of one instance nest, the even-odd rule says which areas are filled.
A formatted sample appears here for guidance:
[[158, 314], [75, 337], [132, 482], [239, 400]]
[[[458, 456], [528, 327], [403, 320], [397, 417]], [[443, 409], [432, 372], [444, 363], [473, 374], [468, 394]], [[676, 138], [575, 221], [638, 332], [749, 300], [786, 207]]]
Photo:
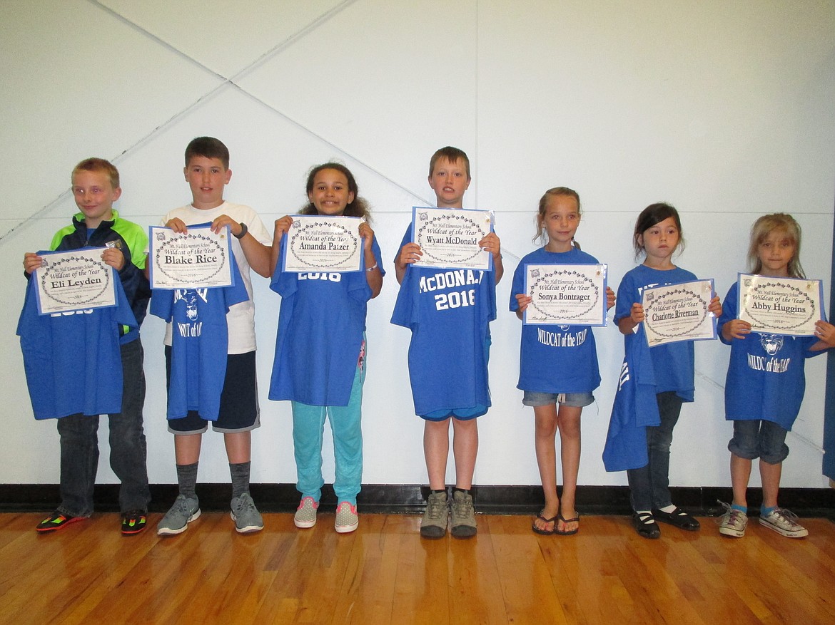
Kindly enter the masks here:
[[[159, 535], [185, 531], [200, 517], [195, 493], [202, 434], [212, 423], [224, 434], [232, 481], [231, 517], [238, 532], [257, 532], [263, 527], [261, 514], [249, 493], [251, 431], [260, 425], [256, 386], [255, 325], [251, 270], [271, 278], [271, 289], [281, 295], [276, 355], [269, 397], [291, 401], [293, 444], [296, 458], [296, 488], [301, 502], [294, 516], [296, 527], [313, 527], [324, 480], [321, 448], [325, 420], [334, 438], [337, 494], [337, 532], [357, 528], [357, 493], [362, 479], [362, 385], [367, 353], [365, 320], [367, 303], [382, 289], [385, 271], [382, 253], [371, 228], [368, 206], [359, 196], [352, 173], [339, 163], [325, 163], [311, 170], [306, 184], [308, 203], [301, 213], [344, 215], [362, 218], [359, 228], [364, 253], [364, 271], [355, 273], [290, 273], [282, 269], [281, 243], [293, 220], [276, 220], [272, 236], [261, 218], [249, 207], [226, 202], [229, 183], [229, 152], [215, 138], [196, 138], [185, 151], [185, 179], [192, 203], [176, 208], [163, 218], [163, 225], [183, 233], [190, 226], [210, 223], [215, 233], [228, 227], [234, 240], [232, 252], [245, 293], [230, 295], [215, 303], [225, 340], [225, 362], [218, 406], [205, 418], [200, 406], [189, 404], [172, 418], [169, 430], [175, 435], [175, 462], [179, 491], [174, 505], [159, 522]], [[119, 218], [112, 207], [119, 198], [119, 173], [107, 161], [90, 158], [73, 169], [73, 195], [80, 213], [73, 225], [53, 238], [55, 251], [105, 247], [104, 263], [121, 279], [133, 309], [136, 328], [114, 328], [119, 332], [122, 359], [121, 412], [109, 414], [111, 466], [121, 480], [119, 506], [122, 532], [141, 532], [147, 522], [150, 501], [146, 448], [142, 426], [144, 403], [143, 351], [139, 323], [150, 298], [146, 255], [148, 239], [144, 228]], [[471, 181], [467, 155], [458, 148], [442, 148], [429, 165], [428, 183], [436, 194], [438, 208], [463, 208], [463, 195]], [[509, 308], [521, 319], [531, 303], [524, 293], [526, 264], [590, 264], [597, 260], [580, 250], [574, 235], [581, 221], [579, 195], [559, 187], [547, 191], [539, 202], [536, 236], [543, 247], [529, 253], [514, 273]], [[677, 268], [673, 255], [683, 245], [681, 221], [668, 204], [653, 204], [640, 213], [633, 237], [636, 259], [643, 263], [625, 275], [617, 298], [606, 289], [607, 308], [615, 306], [615, 323], [629, 342], [645, 341], [640, 333], [644, 311], [643, 289], [689, 282], [692, 273]], [[412, 340], [408, 368], [415, 412], [424, 420], [423, 449], [430, 493], [421, 521], [423, 537], [471, 537], [477, 531], [470, 490], [478, 452], [477, 418], [488, 411], [489, 323], [496, 318], [496, 283], [502, 278], [501, 244], [491, 232], [478, 242], [492, 255], [493, 270], [463, 270], [467, 306], [452, 307], [444, 299], [443, 269], [415, 266], [423, 255], [412, 242], [407, 228], [394, 258], [400, 289], [392, 323], [409, 328]], [[749, 261], [753, 273], [787, 278], [802, 277], [798, 260], [800, 228], [784, 214], [757, 220], [751, 233]], [[42, 266], [43, 257], [27, 253], [23, 268], [30, 276]], [[453, 285], [450, 285], [452, 287]], [[459, 288], [459, 287], [456, 287]], [[212, 291], [215, 289], [207, 289]], [[211, 296], [214, 297], [214, 296]], [[188, 292], [154, 293], [151, 313], [168, 322], [165, 336], [166, 373], [169, 391], [181, 380], [178, 357], [185, 351], [180, 337], [172, 332], [177, 314], [193, 318], [195, 307], [208, 306], [210, 296], [190, 298]], [[203, 304], [200, 304], [200, 302]], [[159, 302], [159, 303], [158, 303]], [[445, 303], [446, 302], [446, 303]], [[180, 305], [180, 313], [177, 313]], [[219, 308], [218, 308], [219, 307]], [[25, 310], [25, 309], [24, 309]], [[723, 343], [731, 345], [731, 366], [726, 383], [726, 418], [734, 421], [731, 451], [731, 482], [734, 501], [723, 517], [720, 532], [741, 537], [745, 532], [746, 486], [751, 461], [760, 458], [763, 506], [760, 521], [785, 536], [805, 536], [791, 512], [777, 506], [780, 468], [788, 453], [787, 431], [797, 417], [803, 394], [803, 358], [835, 347], [835, 327], [818, 322], [817, 337], [779, 337], [751, 332], [750, 324], [736, 318], [736, 285], [724, 305], [713, 297], [710, 312], [719, 317]], [[215, 313], [216, 314], [216, 313]], [[184, 318], [185, 321], [185, 318]], [[23, 325], [22, 345], [26, 333]], [[542, 479], [545, 505], [534, 519], [539, 534], [569, 535], [579, 531], [575, 491], [580, 456], [580, 414], [594, 402], [600, 385], [594, 334], [587, 327], [561, 328], [578, 340], [570, 347], [539, 340], [536, 325], [522, 328], [518, 388], [523, 403], [534, 408], [535, 450]], [[127, 331], [125, 331], [127, 330]], [[195, 333], [184, 333], [185, 336]], [[200, 334], [200, 333], [196, 333]], [[339, 336], [339, 341], [327, 340]], [[779, 343], [779, 347], [775, 347]], [[213, 343], [214, 352], [217, 344]], [[204, 350], [207, 348], [204, 347]], [[749, 353], [774, 355], [784, 349], [790, 361], [782, 373], [755, 371], [747, 363]], [[683, 402], [693, 401], [693, 342], [671, 343], [650, 348], [655, 369], [655, 393], [660, 425], [646, 428], [649, 462], [628, 471], [633, 523], [642, 537], [657, 538], [656, 521], [686, 530], [698, 530], [696, 518], [671, 502], [669, 492], [670, 446], [673, 428]], [[215, 357], [217, 354], [214, 354]], [[27, 352], [24, 347], [24, 361]], [[181, 357], [180, 357], [181, 358]], [[215, 358], [217, 360], [218, 358]], [[223, 361], [222, 352], [220, 361]], [[29, 367], [27, 368], [29, 374]], [[215, 388], [217, 394], [217, 389]], [[170, 395], [171, 402], [171, 395]], [[216, 418], [214, 418], [216, 417]], [[93, 487], [98, 463], [98, 415], [72, 414], [58, 419], [61, 438], [61, 504], [38, 524], [38, 532], [54, 532], [93, 512]], [[449, 429], [453, 430], [455, 485], [448, 496], [445, 478], [449, 455]], [[556, 433], [560, 435], [563, 492], [557, 494]]]

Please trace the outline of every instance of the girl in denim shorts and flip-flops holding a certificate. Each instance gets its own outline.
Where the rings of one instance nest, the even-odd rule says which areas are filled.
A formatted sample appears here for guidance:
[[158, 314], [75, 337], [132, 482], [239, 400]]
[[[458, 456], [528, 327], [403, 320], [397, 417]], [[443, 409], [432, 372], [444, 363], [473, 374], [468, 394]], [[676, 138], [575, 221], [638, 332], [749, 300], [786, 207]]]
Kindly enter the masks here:
[[[544, 247], [519, 261], [511, 288], [510, 310], [524, 318], [531, 303], [525, 293], [526, 265], [597, 264], [581, 252], [574, 241], [580, 221], [579, 195], [566, 187], [545, 192], [539, 200], [534, 242]], [[615, 293], [606, 287], [606, 308], [615, 304]], [[534, 408], [536, 461], [545, 494], [545, 507], [534, 519], [538, 534], [575, 534], [579, 514], [574, 507], [579, 471], [579, 417], [583, 407], [595, 401], [592, 391], [600, 386], [595, 336], [589, 326], [522, 327], [519, 384], [522, 403]], [[559, 430], [563, 469], [563, 497], [557, 495], [556, 433]]]

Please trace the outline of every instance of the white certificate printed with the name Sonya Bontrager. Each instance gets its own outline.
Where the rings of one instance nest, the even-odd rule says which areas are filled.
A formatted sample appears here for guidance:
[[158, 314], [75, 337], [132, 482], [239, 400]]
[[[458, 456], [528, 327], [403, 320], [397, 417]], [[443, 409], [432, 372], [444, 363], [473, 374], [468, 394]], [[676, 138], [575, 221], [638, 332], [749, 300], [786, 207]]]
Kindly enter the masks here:
[[606, 273], [600, 265], [525, 265], [524, 292], [532, 298], [526, 324], [605, 326]]

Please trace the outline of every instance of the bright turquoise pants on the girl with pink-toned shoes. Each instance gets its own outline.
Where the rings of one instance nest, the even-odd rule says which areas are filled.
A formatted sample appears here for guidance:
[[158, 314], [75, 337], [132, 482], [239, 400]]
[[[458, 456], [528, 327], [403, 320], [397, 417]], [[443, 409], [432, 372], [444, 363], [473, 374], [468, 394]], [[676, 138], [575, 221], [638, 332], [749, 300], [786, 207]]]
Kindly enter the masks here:
[[325, 480], [321, 476], [321, 440], [325, 419], [331, 422], [336, 472], [333, 490], [337, 502], [357, 505], [362, 483], [362, 383], [365, 367], [357, 367], [347, 406], [311, 406], [292, 402], [293, 449], [296, 454], [296, 489], [301, 497], [318, 502]]

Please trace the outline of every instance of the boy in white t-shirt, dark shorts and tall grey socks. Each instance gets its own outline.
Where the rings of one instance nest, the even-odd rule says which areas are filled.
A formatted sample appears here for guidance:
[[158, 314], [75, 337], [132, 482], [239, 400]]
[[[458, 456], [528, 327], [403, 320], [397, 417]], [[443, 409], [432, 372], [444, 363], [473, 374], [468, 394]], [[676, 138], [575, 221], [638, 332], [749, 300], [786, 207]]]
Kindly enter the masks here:
[[[264, 527], [264, 523], [249, 493], [251, 431], [261, 424], [258, 420], [255, 308], [250, 268], [269, 278], [272, 239], [255, 211], [223, 199], [232, 171], [229, 168], [229, 150], [218, 139], [199, 137], [192, 140], [185, 148], [183, 171], [191, 188], [192, 203], [166, 214], [163, 224], [177, 233], [185, 233], [188, 226], [198, 223], [210, 222], [215, 233], [229, 226], [234, 238], [231, 242], [232, 254], [249, 294], [248, 301], [230, 306], [226, 315], [229, 340], [225, 383], [220, 394], [220, 414], [212, 428], [224, 435], [232, 478], [231, 516], [235, 520], [235, 530], [240, 533], [257, 532]], [[169, 371], [171, 343], [172, 324], [169, 323], [165, 331], [165, 360]], [[170, 380], [169, 383], [178, 382]], [[188, 523], [200, 516], [195, 484], [200, 443], [207, 428], [208, 421], [196, 410], [190, 410], [185, 418], [169, 421], [169, 431], [175, 434], [180, 494], [159, 522], [157, 533], [160, 536], [184, 532]]]

